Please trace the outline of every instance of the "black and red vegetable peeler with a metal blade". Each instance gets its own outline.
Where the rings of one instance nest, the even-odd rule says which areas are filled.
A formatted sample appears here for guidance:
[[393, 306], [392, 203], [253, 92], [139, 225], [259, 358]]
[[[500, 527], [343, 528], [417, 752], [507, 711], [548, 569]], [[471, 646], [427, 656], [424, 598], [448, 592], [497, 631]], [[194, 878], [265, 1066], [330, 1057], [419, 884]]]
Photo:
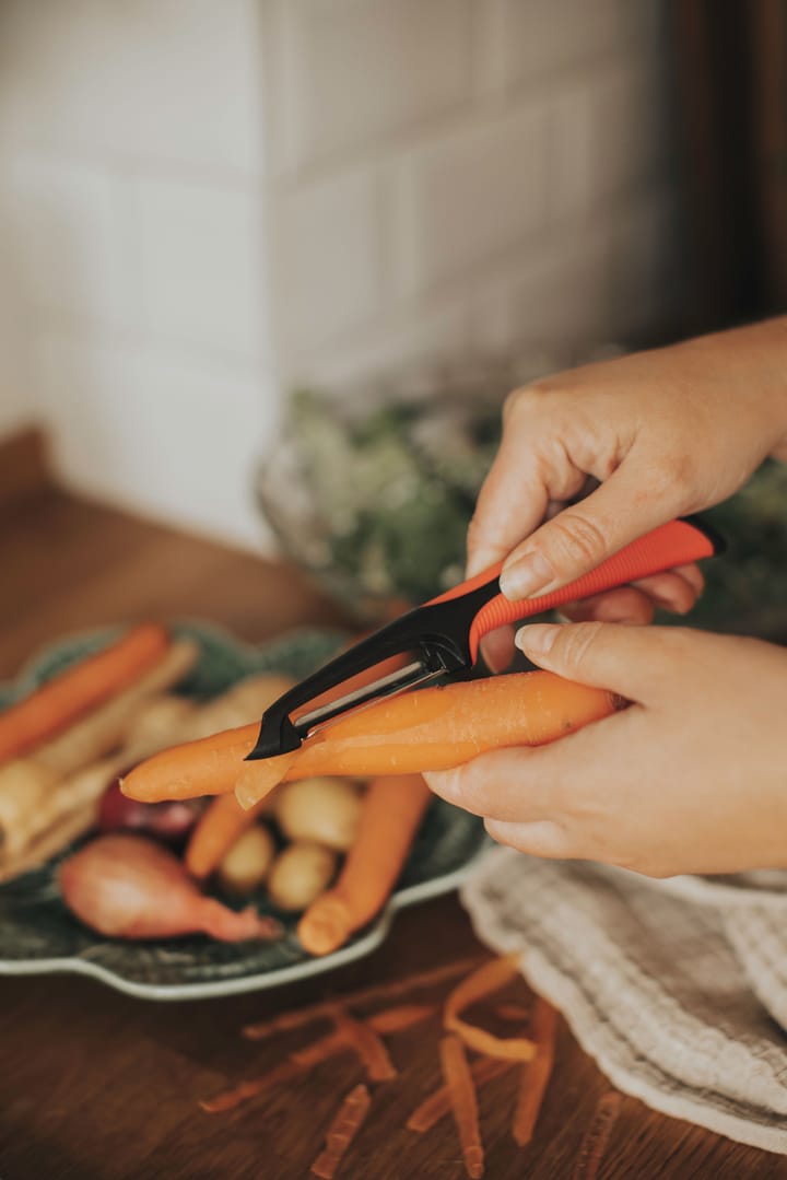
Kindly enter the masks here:
[[[467, 676], [478, 661], [481, 638], [498, 627], [713, 557], [723, 549], [722, 538], [708, 524], [684, 517], [637, 538], [568, 585], [520, 602], [503, 596], [503, 563], [492, 565], [374, 631], [280, 696], [265, 709], [248, 759], [295, 750], [315, 729], [394, 693]], [[385, 664], [392, 662], [394, 670], [387, 670]], [[369, 682], [367, 674], [381, 664], [382, 675]], [[358, 687], [347, 684], [348, 690], [336, 697], [335, 690], [353, 680], [360, 682]], [[326, 694], [328, 699], [321, 700]]]

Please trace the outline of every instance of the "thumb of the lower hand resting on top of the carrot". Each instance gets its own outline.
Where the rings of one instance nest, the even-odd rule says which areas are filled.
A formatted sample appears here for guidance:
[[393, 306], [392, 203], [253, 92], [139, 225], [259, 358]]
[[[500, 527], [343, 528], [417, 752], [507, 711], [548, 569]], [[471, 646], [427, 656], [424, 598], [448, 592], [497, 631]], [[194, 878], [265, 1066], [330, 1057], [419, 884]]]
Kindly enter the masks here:
[[675, 667], [676, 629], [624, 623], [532, 623], [517, 647], [539, 668], [651, 703]]

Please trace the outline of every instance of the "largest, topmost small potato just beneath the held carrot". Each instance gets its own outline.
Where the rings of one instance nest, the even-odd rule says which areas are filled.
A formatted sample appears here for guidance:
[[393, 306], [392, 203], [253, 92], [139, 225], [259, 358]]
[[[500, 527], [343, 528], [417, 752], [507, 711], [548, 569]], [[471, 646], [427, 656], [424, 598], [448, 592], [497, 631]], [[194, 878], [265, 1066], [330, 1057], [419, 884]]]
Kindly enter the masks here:
[[347, 852], [358, 834], [361, 795], [346, 779], [301, 779], [282, 788], [274, 811], [290, 840], [311, 840]]

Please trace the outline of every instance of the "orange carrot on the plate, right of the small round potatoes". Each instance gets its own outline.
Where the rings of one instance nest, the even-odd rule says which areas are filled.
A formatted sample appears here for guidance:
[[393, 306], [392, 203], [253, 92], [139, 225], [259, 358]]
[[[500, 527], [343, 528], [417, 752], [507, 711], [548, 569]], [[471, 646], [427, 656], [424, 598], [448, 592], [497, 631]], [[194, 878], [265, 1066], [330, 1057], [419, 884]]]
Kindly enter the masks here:
[[355, 844], [339, 880], [301, 918], [297, 937], [310, 955], [329, 955], [382, 909], [409, 852], [429, 792], [420, 775], [375, 779], [363, 796]]

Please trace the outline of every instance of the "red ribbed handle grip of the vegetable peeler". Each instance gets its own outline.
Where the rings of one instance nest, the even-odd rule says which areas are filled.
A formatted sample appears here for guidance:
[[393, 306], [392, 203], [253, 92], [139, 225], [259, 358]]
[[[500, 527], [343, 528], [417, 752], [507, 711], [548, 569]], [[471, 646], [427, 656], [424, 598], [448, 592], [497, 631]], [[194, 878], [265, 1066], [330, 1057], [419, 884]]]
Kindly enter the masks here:
[[[673, 569], [675, 565], [687, 565], [703, 557], [713, 557], [716, 546], [710, 536], [691, 520], [670, 520], [648, 532], [644, 537], [632, 540], [630, 545], [608, 557], [590, 573], [569, 582], [568, 585], [540, 595], [538, 598], [524, 598], [522, 602], [510, 602], [503, 595], [497, 595], [483, 607], [473, 621], [470, 631], [470, 650], [473, 662], [478, 655], [478, 644], [484, 635], [506, 623], [517, 623], [531, 615], [540, 615], [568, 602], [590, 598], [595, 594], [611, 590], [615, 586], [636, 582], [650, 573]], [[499, 566], [496, 566], [499, 573]], [[492, 570], [486, 571], [473, 582], [488, 578]]]

